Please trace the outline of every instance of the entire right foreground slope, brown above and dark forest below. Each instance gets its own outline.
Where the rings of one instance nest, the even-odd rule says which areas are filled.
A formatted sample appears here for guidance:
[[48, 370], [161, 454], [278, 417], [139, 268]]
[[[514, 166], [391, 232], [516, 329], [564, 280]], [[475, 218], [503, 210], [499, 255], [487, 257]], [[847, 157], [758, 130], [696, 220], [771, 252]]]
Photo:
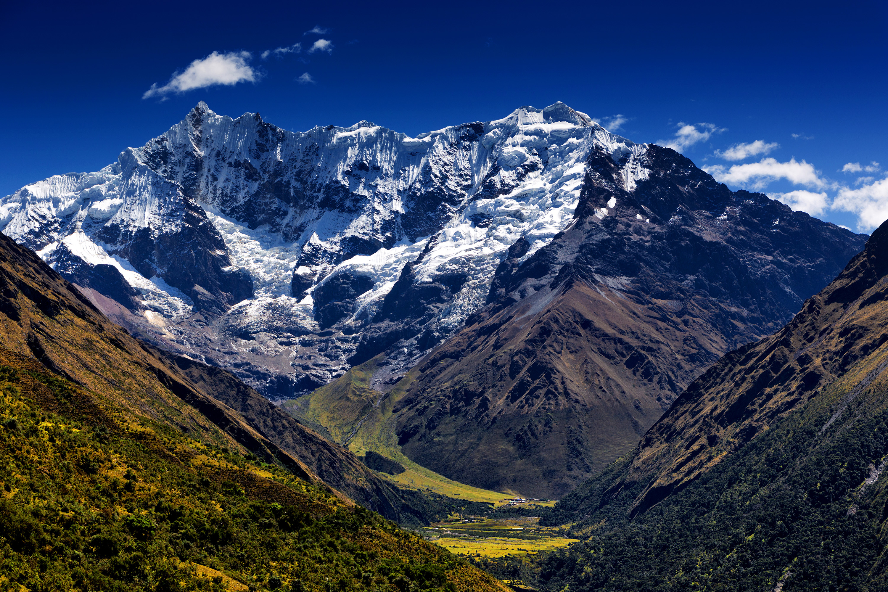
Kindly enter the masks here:
[[888, 224], [559, 502], [548, 522], [587, 541], [543, 564], [544, 588], [884, 589], [886, 370]]

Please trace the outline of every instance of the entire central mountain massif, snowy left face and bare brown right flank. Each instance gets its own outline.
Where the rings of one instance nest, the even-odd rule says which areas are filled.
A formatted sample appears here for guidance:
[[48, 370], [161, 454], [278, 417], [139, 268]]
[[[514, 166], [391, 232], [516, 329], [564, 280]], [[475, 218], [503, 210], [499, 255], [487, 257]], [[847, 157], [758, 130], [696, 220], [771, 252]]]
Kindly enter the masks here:
[[266, 398], [363, 364], [373, 429], [410, 459], [536, 497], [630, 450], [866, 240], [562, 103], [416, 138], [200, 103], [4, 197], [0, 225], [133, 335]]

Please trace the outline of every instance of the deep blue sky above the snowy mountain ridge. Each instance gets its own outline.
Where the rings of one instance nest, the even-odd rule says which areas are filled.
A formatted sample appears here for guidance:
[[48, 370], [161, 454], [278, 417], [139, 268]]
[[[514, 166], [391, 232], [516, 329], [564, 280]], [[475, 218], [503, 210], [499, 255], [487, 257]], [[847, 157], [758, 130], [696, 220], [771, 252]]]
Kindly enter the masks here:
[[[411, 135], [561, 100], [606, 122], [622, 114], [614, 131], [638, 142], [671, 140], [678, 122], [715, 128], [683, 152], [733, 188], [809, 192], [795, 199], [855, 229], [888, 217], [884, 2], [90, 4], [3, 9], [0, 195], [98, 170], [201, 99], [289, 130], [368, 119]], [[315, 25], [329, 30], [304, 35]], [[307, 53], [321, 38], [331, 51]], [[297, 42], [299, 54], [260, 57]], [[258, 82], [142, 98], [213, 51], [250, 52]], [[304, 73], [314, 83], [297, 82]], [[780, 147], [715, 155], [755, 140]], [[763, 158], [775, 160], [730, 173]], [[849, 162], [861, 170], [842, 172]]]

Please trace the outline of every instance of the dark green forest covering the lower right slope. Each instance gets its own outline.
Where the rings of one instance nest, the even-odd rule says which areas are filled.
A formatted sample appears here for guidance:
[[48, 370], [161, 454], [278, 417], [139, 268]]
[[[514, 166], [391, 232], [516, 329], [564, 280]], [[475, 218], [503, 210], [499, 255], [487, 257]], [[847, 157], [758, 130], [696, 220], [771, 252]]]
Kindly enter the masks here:
[[[521, 575], [545, 590], [884, 589], [886, 360], [883, 347], [638, 516], [648, 479], [614, 493], [631, 459], [615, 462], [543, 518], [583, 542]], [[507, 567], [488, 565], [497, 577]]]

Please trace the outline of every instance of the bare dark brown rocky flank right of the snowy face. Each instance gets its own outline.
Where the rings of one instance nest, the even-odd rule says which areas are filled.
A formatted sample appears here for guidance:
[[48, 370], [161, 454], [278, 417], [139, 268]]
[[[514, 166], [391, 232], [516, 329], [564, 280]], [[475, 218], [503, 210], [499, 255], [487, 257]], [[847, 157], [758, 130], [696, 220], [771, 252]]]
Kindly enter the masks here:
[[[575, 222], [512, 244], [487, 307], [399, 384], [399, 444], [458, 481], [559, 497], [719, 356], [773, 333], [863, 244], [646, 146], [629, 184], [596, 148]], [[405, 269], [405, 274], [408, 270]], [[403, 277], [403, 276], [402, 276]], [[397, 286], [386, 296], [392, 302]]]

